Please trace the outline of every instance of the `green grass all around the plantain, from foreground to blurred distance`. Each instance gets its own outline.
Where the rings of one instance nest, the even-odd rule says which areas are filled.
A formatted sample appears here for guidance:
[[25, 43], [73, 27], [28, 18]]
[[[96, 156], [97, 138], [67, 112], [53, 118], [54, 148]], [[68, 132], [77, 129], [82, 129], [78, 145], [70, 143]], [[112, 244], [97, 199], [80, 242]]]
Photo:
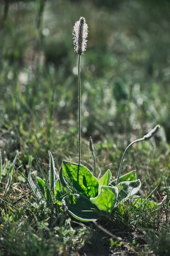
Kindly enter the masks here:
[[[62, 160], [78, 163], [72, 30], [84, 16], [89, 35], [81, 61], [81, 163], [94, 171], [91, 136], [97, 177], [110, 169], [116, 178], [127, 145], [159, 123], [156, 137], [127, 152], [122, 174], [136, 170], [141, 197], [153, 192], [148, 200], [160, 203], [156, 191], [164, 197], [164, 178], [170, 182], [169, 2], [16, 1], [5, 15], [0, 5], [0, 255], [168, 256], [169, 204], [167, 220], [163, 207], [148, 201], [136, 207], [131, 200], [96, 223], [67, 212], [54, 216], [12, 162], [18, 151], [34, 182], [40, 177], [36, 155], [46, 174], [48, 150], [58, 170]], [[20, 170], [18, 160], [14, 164]]]

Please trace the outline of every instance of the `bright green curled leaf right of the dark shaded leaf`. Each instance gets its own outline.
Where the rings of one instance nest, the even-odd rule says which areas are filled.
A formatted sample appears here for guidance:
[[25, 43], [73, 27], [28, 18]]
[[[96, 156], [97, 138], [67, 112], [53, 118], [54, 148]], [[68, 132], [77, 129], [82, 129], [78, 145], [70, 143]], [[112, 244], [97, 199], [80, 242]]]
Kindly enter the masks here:
[[90, 200], [99, 210], [111, 212], [116, 206], [117, 196], [118, 188], [116, 186], [101, 186], [100, 194]]

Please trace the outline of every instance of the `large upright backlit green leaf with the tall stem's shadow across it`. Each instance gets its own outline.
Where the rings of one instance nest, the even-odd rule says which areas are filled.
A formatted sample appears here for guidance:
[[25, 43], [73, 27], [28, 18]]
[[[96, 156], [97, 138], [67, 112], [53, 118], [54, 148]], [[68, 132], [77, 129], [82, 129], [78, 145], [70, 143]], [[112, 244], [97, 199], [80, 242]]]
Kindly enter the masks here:
[[98, 194], [99, 182], [85, 167], [68, 161], [62, 161], [62, 174], [65, 181], [79, 191], [82, 195], [93, 198]]

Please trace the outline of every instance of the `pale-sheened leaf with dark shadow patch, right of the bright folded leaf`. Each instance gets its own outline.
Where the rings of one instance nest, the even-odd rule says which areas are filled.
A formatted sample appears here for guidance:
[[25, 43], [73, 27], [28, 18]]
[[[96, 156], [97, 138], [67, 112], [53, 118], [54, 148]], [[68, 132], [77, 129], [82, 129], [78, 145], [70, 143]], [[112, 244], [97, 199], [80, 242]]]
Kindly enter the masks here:
[[141, 182], [138, 179], [135, 181], [124, 181], [119, 183], [118, 186], [119, 185], [122, 186], [122, 189], [119, 191], [118, 201], [122, 201], [125, 198], [136, 194], [141, 187]]

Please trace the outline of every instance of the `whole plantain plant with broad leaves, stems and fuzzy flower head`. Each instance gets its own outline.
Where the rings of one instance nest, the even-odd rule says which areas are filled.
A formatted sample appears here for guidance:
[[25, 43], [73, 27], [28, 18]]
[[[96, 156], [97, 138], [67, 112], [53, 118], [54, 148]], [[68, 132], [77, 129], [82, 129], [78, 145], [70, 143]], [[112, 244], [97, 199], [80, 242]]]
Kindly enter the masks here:
[[[121, 175], [122, 164], [125, 154], [134, 143], [149, 140], [153, 137], [159, 129], [159, 125], [150, 131], [141, 139], [135, 140], [125, 149], [119, 167], [119, 172], [116, 180], [111, 177], [111, 171], [108, 169], [105, 175], [99, 180], [96, 178], [96, 159], [94, 156], [94, 147], [92, 139], [90, 138], [90, 150], [94, 157], [94, 175], [91, 171], [81, 165], [81, 82], [80, 82], [80, 58], [86, 50], [88, 26], [85, 18], [80, 19], [74, 26], [74, 49], [78, 54], [78, 84], [79, 84], [79, 142], [78, 155], [79, 161], [72, 163], [69, 161], [62, 161], [62, 166], [59, 171], [56, 170], [54, 159], [50, 151], [49, 158], [49, 177], [43, 174], [40, 163], [37, 158], [37, 165], [39, 167], [42, 177], [37, 177], [35, 184], [31, 178], [31, 172], [26, 177], [21, 166], [20, 173], [26, 179], [34, 192], [37, 201], [46, 201], [47, 206], [53, 210], [54, 214], [63, 210], [67, 211], [74, 218], [80, 221], [95, 221], [103, 214], [111, 214], [113, 209], [120, 203], [131, 198], [136, 194], [140, 187], [141, 181], [136, 178], [135, 171], [129, 172], [123, 176]], [[137, 199], [142, 202], [141, 198]], [[153, 203], [154, 204], [154, 203]]]

